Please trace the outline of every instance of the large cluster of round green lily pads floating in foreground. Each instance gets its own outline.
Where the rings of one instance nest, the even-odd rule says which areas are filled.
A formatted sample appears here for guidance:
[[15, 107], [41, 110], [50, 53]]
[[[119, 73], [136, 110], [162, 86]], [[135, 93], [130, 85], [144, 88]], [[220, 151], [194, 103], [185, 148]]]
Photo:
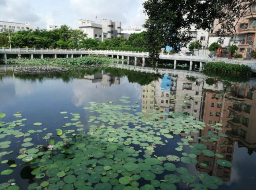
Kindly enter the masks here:
[[[89, 117], [88, 125], [82, 124], [78, 113], [61, 111], [65, 123], [56, 134], [43, 136], [46, 145], [33, 143], [31, 134], [47, 130], [37, 129], [42, 123], [33, 123], [35, 129], [21, 131], [26, 119], [14, 122], [0, 122], [0, 138], [13, 135], [23, 138], [17, 159], [31, 167], [35, 182], [29, 184], [28, 190], [176, 190], [176, 184], [184, 183], [193, 190], [216, 189], [223, 184], [220, 178], [207, 174], [198, 176], [190, 173], [186, 164], [200, 164], [197, 156], [220, 158], [217, 163], [231, 167], [222, 155], [214, 154], [202, 143], [190, 145], [194, 140], [191, 132], [199, 133], [206, 125], [195, 121], [193, 116], [179, 112], [161, 113], [157, 109], [139, 111], [139, 106], [129, 104], [128, 96], [122, 96], [121, 104], [113, 101], [106, 103], [89, 102], [84, 107]], [[4, 117], [5, 115], [0, 115]], [[22, 117], [20, 112], [15, 117]], [[159, 119], [164, 117], [164, 120]], [[219, 125], [219, 126], [218, 126]], [[213, 125], [221, 130], [221, 125]], [[187, 134], [180, 139], [178, 147], [170, 144], [173, 138]], [[37, 135], [39, 138], [39, 135]], [[219, 135], [221, 136], [221, 135]], [[199, 137], [198, 140], [216, 141], [216, 134]], [[179, 138], [178, 138], [179, 139]], [[0, 142], [0, 148], [8, 148], [12, 142]], [[167, 145], [168, 144], [168, 145]], [[166, 146], [166, 155], [157, 155], [157, 149]], [[174, 147], [170, 147], [174, 146]], [[189, 146], [190, 154], [180, 152]], [[168, 150], [175, 149], [177, 155]], [[0, 156], [12, 154], [1, 152]], [[5, 164], [4, 160], [1, 164]], [[184, 167], [177, 167], [182, 162]], [[11, 175], [16, 165], [1, 171], [1, 175]], [[0, 189], [18, 190], [15, 183], [0, 184]]]

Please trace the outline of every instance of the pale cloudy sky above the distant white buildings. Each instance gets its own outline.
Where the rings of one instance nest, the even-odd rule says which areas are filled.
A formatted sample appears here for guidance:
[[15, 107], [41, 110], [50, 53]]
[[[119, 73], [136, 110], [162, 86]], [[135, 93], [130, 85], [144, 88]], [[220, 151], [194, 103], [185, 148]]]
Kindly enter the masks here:
[[144, 0], [0, 0], [0, 21], [32, 23], [33, 28], [68, 25], [77, 28], [79, 19], [121, 21], [121, 27], [145, 22]]

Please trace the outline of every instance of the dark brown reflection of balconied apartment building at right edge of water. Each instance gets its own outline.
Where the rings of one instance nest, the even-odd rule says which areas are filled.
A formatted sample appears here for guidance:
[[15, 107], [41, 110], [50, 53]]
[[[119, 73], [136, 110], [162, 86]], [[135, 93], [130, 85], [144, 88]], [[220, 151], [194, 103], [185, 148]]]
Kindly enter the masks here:
[[229, 121], [231, 130], [227, 134], [239, 146], [256, 151], [256, 87], [235, 86], [231, 92], [238, 102], [229, 108], [233, 119]]

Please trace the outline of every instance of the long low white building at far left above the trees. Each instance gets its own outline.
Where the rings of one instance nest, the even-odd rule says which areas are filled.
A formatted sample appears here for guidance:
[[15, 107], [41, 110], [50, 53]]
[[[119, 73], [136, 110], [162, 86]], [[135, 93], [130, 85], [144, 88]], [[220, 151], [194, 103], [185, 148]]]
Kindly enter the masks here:
[[7, 22], [7, 21], [0, 21], [0, 33], [4, 31], [12, 31], [12, 33], [18, 31], [25, 31], [31, 29], [29, 23], [14, 23], [14, 22]]

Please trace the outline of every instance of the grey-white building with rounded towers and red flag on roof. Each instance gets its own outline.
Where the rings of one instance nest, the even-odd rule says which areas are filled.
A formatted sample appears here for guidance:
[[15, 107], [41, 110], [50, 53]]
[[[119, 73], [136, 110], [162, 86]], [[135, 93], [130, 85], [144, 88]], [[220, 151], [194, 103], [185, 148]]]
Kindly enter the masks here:
[[87, 34], [87, 38], [99, 41], [121, 36], [121, 22], [102, 19], [100, 24], [90, 20], [78, 20], [78, 28]]

